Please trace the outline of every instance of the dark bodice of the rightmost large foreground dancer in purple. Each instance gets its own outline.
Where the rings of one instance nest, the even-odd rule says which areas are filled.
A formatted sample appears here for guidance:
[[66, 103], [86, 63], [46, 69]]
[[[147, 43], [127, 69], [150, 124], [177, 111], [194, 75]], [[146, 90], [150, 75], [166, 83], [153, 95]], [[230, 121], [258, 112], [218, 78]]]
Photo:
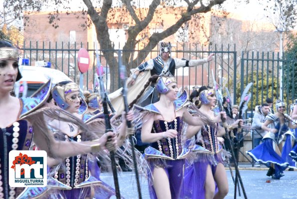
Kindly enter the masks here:
[[199, 144], [213, 153], [218, 152], [217, 129], [205, 125], [205, 128], [201, 130], [202, 141]]

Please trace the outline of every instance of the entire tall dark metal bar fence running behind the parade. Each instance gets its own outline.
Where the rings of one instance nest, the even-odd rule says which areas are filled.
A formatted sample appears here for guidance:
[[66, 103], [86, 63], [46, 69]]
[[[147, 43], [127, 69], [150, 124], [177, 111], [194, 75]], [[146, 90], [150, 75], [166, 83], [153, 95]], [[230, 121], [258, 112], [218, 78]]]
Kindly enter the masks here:
[[[29, 65], [34, 65], [34, 61], [37, 60], [50, 61], [52, 68], [63, 71], [75, 82], [79, 81], [80, 74], [77, 67], [77, 53], [81, 47], [86, 48], [90, 53], [91, 64], [89, 70], [86, 72], [84, 85], [86, 85], [87, 89], [92, 89], [95, 84], [94, 43], [29, 41], [21, 44], [19, 43], [18, 45], [22, 49], [23, 57], [29, 58]], [[213, 85], [211, 75], [213, 70], [216, 76], [216, 81], [219, 82], [222, 87], [228, 87], [231, 96], [233, 96], [234, 103], [239, 103], [240, 94], [245, 85], [247, 85], [248, 82], [254, 82], [252, 87], [252, 99], [249, 105], [249, 111], [252, 111], [254, 106], [263, 103], [266, 97], [272, 97], [274, 99], [279, 98], [279, 74], [281, 65], [283, 65], [284, 99], [287, 104], [290, 104], [296, 97], [294, 89], [295, 82], [290, 82], [291, 87], [286, 86], [290, 79], [296, 78], [296, 70], [294, 70], [294, 67], [293, 71], [289, 70], [289, 67], [286, 67], [286, 65], [292, 64], [292, 60], [286, 58], [281, 59], [279, 52], [241, 52], [241, 57], [239, 58], [235, 45], [209, 45], [207, 47], [200, 47], [193, 43], [174, 43], [172, 46], [171, 55], [176, 58], [200, 59], [207, 57], [212, 52], [215, 53], [215, 59], [209, 63], [197, 67], [182, 67], [176, 69], [178, 85], [183, 89], [187, 89], [189, 92], [192, 91], [192, 88], [195, 85]], [[134, 56], [139, 52], [138, 48], [140, 47], [138, 46], [137, 49], [131, 49]], [[117, 67], [115, 63], [117, 62], [118, 50], [107, 50], [113, 52], [114, 64], [112, 63], [112, 65], [108, 65], [106, 63], [106, 59], [102, 55], [101, 49], [99, 49], [99, 58], [103, 65], [107, 65], [105, 68], [105, 85], [107, 90], [112, 92], [119, 87], [119, 80], [114, 79], [114, 75], [109, 73], [109, 67]], [[158, 47], [151, 48], [148, 56], [145, 58], [140, 57], [137, 62], [140, 64], [144, 60], [156, 57], [158, 53]], [[135, 68], [137, 65], [130, 66]], [[117, 69], [114, 71], [117, 71]]]

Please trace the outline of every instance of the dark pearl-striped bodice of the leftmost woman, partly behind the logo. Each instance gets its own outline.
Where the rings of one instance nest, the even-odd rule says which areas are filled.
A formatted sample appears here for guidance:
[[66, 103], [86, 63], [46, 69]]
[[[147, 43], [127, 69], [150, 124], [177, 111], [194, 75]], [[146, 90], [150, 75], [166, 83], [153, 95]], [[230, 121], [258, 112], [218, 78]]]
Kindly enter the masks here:
[[23, 190], [8, 184], [8, 153], [10, 150], [28, 150], [32, 137], [33, 128], [24, 119], [0, 128], [0, 198], [15, 198]]

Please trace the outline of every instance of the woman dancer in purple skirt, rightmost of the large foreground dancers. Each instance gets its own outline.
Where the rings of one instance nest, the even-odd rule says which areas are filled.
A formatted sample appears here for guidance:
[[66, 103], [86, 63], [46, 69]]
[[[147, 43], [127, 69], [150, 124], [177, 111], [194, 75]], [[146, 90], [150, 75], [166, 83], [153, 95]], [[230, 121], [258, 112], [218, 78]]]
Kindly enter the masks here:
[[[199, 109], [192, 109], [194, 115], [206, 115], [216, 124], [190, 126], [187, 128], [187, 138], [194, 136], [188, 143], [191, 148], [190, 158], [187, 158], [184, 174], [185, 198], [224, 198], [228, 193], [228, 180], [224, 163], [231, 157], [220, 143], [225, 129], [219, 126], [221, 114], [227, 118], [226, 112], [215, 113], [212, 107], [216, 105], [216, 93], [211, 87], [201, 86], [198, 91]], [[237, 119], [228, 125], [228, 130], [238, 127], [242, 119]], [[217, 191], [216, 190], [217, 186]]]

